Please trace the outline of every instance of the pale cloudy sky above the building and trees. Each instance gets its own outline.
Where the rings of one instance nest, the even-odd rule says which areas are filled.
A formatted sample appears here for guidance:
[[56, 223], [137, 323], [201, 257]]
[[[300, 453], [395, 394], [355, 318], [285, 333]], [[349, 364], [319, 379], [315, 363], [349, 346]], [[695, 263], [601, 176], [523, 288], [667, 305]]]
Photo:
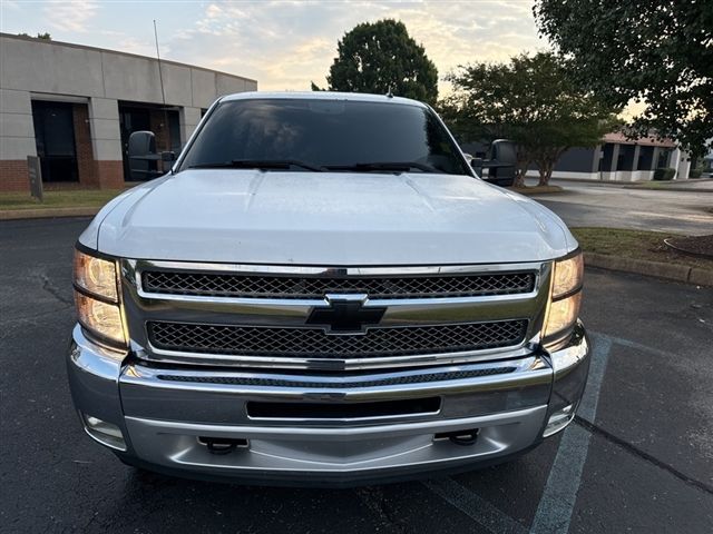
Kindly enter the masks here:
[[[162, 57], [256, 79], [263, 90], [325, 85], [336, 41], [359, 22], [394, 18], [423, 44], [439, 77], [458, 65], [548, 47], [531, 0], [32, 1], [0, 0], [7, 33]], [[448, 86], [441, 82], [441, 91]]]

